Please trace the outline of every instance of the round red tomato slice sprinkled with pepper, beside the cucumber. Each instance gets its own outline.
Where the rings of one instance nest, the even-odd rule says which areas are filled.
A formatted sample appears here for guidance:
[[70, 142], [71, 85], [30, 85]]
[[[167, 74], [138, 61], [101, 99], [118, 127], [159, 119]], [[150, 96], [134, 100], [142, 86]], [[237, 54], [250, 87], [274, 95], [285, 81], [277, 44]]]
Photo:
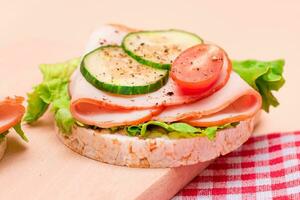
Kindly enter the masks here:
[[173, 62], [170, 76], [184, 90], [206, 91], [218, 80], [224, 62], [223, 49], [199, 44], [182, 52]]

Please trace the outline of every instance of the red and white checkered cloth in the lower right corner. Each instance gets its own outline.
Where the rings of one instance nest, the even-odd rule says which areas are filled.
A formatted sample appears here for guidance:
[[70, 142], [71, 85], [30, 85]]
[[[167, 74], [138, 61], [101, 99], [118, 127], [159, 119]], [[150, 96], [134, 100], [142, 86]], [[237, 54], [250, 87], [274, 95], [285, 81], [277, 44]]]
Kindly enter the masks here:
[[300, 200], [300, 132], [250, 138], [173, 198], [192, 199]]

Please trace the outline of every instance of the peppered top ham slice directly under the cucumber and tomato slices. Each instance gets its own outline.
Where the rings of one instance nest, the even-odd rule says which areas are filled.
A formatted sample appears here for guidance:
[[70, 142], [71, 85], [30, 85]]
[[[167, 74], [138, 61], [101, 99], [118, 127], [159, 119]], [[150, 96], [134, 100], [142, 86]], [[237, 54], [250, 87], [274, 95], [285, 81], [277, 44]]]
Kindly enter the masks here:
[[[121, 25], [105, 25], [97, 29], [90, 36], [90, 39], [86, 46], [86, 52], [95, 49], [96, 47], [108, 44], [120, 45], [123, 37], [129, 33], [135, 31], [135, 29], [127, 28]], [[226, 59], [228, 59], [226, 57]], [[79, 70], [74, 72], [69, 87], [69, 92], [72, 96], [72, 102], [74, 104], [80, 104], [80, 99], [90, 99], [94, 101], [98, 106], [105, 106], [110, 108], [119, 109], [148, 109], [158, 108], [162, 106], [181, 105], [190, 103], [219, 90], [229, 79], [231, 64], [222, 68], [221, 76], [214, 84], [214, 86], [201, 94], [185, 94], [180, 87], [169, 78], [167, 84], [159, 90], [144, 94], [144, 95], [114, 95], [104, 91], [100, 91], [92, 86], [82, 76]], [[80, 105], [76, 105], [80, 106]]]

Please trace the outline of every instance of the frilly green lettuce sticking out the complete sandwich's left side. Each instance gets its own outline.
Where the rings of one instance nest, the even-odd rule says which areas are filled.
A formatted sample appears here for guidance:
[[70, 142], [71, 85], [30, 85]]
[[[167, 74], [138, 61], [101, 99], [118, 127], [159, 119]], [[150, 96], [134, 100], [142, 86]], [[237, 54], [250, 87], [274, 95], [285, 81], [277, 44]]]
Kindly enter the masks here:
[[75, 58], [63, 63], [40, 65], [43, 82], [28, 93], [25, 122], [37, 121], [51, 104], [51, 111], [59, 129], [65, 134], [71, 133], [75, 120], [69, 109], [68, 83], [79, 62], [80, 58]]

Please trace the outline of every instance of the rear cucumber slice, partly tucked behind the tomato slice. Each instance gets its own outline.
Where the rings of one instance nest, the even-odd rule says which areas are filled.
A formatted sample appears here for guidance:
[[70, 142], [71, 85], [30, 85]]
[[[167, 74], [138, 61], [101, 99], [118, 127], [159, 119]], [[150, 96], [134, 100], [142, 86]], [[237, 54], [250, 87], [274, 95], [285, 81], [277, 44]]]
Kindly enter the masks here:
[[182, 51], [201, 43], [203, 41], [197, 35], [181, 30], [140, 31], [127, 34], [122, 48], [144, 65], [170, 69]]

